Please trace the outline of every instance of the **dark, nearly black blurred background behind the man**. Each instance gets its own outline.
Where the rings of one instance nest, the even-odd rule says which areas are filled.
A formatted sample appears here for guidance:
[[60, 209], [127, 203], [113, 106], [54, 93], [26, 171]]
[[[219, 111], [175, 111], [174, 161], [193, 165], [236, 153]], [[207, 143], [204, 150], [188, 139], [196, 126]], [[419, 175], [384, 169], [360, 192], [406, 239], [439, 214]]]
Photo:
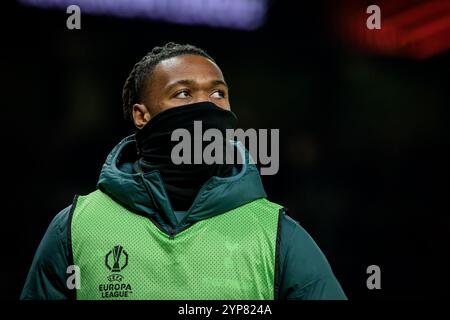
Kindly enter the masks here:
[[[280, 129], [269, 199], [312, 235], [350, 299], [436, 298], [449, 287], [450, 52], [389, 58], [337, 41], [326, 2], [272, 2], [256, 31], [19, 5], [1, 20], [0, 295], [17, 299], [51, 219], [95, 188], [133, 127], [121, 91], [155, 45], [207, 50], [243, 128]], [[366, 268], [381, 268], [368, 290]]]

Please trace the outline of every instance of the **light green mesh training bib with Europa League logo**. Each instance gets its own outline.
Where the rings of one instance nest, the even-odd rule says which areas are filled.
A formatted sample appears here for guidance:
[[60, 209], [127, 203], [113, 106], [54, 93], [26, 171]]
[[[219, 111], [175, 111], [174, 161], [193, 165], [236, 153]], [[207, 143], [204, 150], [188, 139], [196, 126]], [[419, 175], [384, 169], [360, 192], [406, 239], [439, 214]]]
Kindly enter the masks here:
[[77, 299], [273, 299], [281, 206], [261, 198], [174, 237], [100, 190], [71, 221]]

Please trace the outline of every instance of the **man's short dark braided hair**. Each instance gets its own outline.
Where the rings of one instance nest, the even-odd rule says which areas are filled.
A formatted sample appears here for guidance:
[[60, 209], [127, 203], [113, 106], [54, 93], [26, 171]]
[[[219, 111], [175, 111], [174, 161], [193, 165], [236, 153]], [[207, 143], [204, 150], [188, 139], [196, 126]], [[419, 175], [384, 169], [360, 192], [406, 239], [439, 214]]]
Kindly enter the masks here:
[[151, 75], [156, 65], [183, 54], [195, 54], [214, 61], [204, 50], [190, 44], [169, 42], [162, 47], [154, 47], [131, 70], [122, 90], [123, 113], [125, 119], [132, 119], [133, 105], [142, 102], [142, 95], [151, 81]]

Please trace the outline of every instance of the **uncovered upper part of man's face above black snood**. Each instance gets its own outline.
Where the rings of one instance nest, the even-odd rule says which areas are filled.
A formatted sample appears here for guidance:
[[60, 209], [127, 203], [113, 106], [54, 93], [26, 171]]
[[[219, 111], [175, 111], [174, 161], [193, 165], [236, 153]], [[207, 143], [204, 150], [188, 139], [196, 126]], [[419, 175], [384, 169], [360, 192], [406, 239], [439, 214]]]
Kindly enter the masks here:
[[222, 71], [214, 62], [199, 55], [186, 54], [161, 61], [153, 70], [146, 89], [144, 103], [133, 107], [138, 128], [157, 113], [185, 104], [210, 101], [230, 110]]

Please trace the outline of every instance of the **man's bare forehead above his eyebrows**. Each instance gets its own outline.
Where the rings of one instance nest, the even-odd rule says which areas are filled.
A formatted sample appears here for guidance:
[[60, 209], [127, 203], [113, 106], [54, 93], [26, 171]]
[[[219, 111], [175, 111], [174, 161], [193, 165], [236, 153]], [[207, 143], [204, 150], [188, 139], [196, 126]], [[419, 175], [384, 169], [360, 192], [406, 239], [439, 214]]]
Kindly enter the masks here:
[[173, 81], [192, 79], [196, 81], [224, 80], [219, 67], [203, 56], [185, 54], [158, 63], [152, 80], [164, 85]]

